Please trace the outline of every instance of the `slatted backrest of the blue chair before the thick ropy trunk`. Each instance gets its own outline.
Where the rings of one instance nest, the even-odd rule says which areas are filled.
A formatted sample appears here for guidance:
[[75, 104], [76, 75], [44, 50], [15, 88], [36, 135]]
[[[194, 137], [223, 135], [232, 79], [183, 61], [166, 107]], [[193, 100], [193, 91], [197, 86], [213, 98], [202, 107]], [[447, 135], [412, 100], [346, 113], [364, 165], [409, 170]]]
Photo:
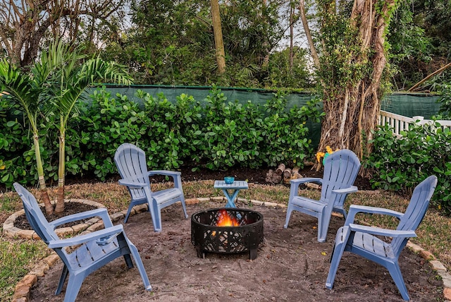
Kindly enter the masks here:
[[342, 206], [345, 203], [346, 195], [335, 194], [333, 199], [329, 200], [333, 194], [332, 191], [352, 186], [359, 169], [359, 158], [350, 150], [340, 150], [329, 155], [324, 161], [321, 200]]

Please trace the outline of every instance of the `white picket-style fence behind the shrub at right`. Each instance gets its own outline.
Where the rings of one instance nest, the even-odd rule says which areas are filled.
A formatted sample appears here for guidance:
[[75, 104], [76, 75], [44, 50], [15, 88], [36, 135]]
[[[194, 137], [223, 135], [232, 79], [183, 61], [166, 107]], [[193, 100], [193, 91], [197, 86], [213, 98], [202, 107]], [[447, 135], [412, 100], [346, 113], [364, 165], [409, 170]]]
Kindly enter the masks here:
[[[449, 128], [451, 130], [451, 121], [448, 120], [437, 120], [440, 123], [440, 127], [444, 130]], [[409, 123], [419, 123], [423, 125], [425, 123], [433, 123], [431, 119], [424, 119], [423, 116], [414, 116], [412, 118], [407, 116], [402, 116], [399, 114], [393, 114], [387, 111], [381, 110], [381, 115], [379, 116], [379, 125], [385, 125], [388, 123], [389, 126], [393, 127], [393, 133], [396, 136], [401, 136], [401, 131], [409, 129]]]

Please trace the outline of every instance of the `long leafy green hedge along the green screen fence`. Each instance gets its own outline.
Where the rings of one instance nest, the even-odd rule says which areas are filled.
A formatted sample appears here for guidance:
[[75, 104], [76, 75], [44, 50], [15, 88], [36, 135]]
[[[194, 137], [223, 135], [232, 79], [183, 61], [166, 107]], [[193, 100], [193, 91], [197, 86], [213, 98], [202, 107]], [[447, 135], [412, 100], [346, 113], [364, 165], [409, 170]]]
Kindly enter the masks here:
[[[307, 121], [318, 123], [319, 103], [288, 109], [282, 92], [266, 104], [228, 100], [213, 87], [199, 102], [181, 94], [169, 102], [138, 90], [131, 101], [112, 96], [104, 87], [86, 102], [77, 104], [66, 133], [66, 171], [95, 175], [99, 180], [116, 175], [114, 152], [122, 143], [134, 143], [147, 155], [149, 169], [180, 169], [183, 165], [228, 169], [229, 167], [275, 167], [283, 162], [302, 167], [313, 154]], [[0, 99], [0, 179], [10, 187], [14, 181], [37, 183], [31, 133], [11, 99]], [[51, 112], [51, 108], [43, 108]], [[47, 181], [56, 181], [58, 130], [55, 116], [40, 122], [42, 159]]]

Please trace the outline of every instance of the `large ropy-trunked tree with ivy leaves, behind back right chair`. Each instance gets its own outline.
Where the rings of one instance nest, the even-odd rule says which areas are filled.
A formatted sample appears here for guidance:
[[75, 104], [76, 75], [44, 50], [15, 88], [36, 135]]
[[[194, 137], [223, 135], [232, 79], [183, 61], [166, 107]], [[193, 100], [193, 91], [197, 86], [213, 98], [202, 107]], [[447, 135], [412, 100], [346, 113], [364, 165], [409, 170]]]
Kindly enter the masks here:
[[368, 141], [387, 83], [385, 35], [397, 0], [316, 1], [317, 43], [309, 33], [304, 0], [299, 6], [326, 114], [319, 150], [347, 148], [362, 158], [371, 152]]

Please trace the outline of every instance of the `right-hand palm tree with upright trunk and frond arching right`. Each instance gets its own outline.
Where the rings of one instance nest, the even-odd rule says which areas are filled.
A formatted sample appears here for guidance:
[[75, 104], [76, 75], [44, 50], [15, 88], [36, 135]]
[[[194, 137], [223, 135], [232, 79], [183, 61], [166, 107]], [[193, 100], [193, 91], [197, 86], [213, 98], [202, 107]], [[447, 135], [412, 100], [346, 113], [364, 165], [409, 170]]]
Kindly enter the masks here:
[[101, 81], [125, 85], [132, 83], [128, 73], [123, 70], [123, 66], [111, 61], [104, 61], [99, 56], [82, 61], [85, 56], [80, 53], [80, 48], [70, 49], [70, 46], [56, 41], [42, 58], [42, 61], [59, 64], [59, 66], [55, 66], [56, 72], [52, 75], [47, 88], [48, 97], [56, 111], [55, 114], [59, 115], [58, 192], [55, 207], [57, 214], [64, 211], [66, 126], [70, 117], [73, 116], [75, 103], [83, 97], [83, 92], [87, 87]]

